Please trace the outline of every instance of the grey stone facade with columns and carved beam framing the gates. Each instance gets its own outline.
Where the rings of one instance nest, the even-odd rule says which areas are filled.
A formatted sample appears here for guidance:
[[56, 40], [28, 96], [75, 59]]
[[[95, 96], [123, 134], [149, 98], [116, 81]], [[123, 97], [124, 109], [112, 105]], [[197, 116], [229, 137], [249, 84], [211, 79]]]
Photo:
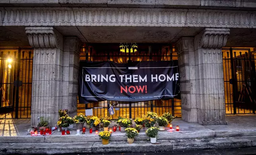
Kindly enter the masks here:
[[174, 43], [182, 119], [224, 125], [222, 47], [254, 47], [254, 0], [1, 0], [0, 46], [34, 48], [31, 123], [76, 113], [81, 43]]

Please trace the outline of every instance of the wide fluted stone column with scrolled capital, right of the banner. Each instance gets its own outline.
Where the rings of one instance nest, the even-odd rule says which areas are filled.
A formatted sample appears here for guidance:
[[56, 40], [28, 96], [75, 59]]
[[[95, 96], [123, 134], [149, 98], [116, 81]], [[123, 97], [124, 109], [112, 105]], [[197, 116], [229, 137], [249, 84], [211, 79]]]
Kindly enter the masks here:
[[221, 47], [228, 28], [204, 28], [195, 36], [195, 77], [198, 123], [225, 125], [225, 98]]

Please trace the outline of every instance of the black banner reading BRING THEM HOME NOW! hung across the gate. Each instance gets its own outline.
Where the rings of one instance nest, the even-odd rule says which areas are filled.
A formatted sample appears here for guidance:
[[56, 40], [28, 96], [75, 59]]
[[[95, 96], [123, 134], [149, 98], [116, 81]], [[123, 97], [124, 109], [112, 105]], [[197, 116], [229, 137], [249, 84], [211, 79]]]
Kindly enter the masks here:
[[80, 103], [148, 101], [179, 95], [178, 60], [80, 62]]

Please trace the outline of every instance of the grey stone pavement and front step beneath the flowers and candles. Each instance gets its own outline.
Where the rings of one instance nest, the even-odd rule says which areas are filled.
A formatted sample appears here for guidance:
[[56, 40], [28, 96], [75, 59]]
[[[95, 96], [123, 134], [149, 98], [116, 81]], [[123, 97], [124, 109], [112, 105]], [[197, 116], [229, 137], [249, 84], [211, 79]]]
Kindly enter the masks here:
[[[175, 119], [180, 131], [159, 131], [158, 144], [150, 144], [145, 132], [140, 132], [134, 144], [127, 143], [125, 133], [113, 133], [108, 145], [102, 145], [98, 135], [27, 135], [29, 120], [0, 120], [0, 154], [6, 153], [125, 153], [202, 149], [256, 147], [256, 115], [228, 115], [228, 125], [202, 126]], [[113, 125], [113, 124], [112, 124]]]

